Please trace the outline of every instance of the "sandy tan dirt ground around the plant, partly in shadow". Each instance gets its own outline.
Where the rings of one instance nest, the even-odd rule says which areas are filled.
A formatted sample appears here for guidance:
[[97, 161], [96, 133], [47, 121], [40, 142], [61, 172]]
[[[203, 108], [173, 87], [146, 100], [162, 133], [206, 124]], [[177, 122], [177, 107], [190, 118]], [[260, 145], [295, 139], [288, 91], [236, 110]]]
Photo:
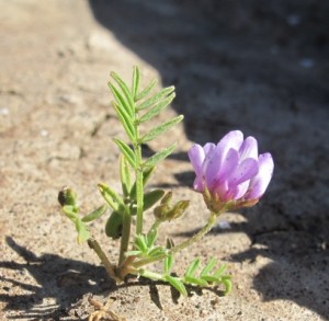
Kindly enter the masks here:
[[[328, 320], [329, 316], [329, 2], [0, 1], [0, 320], [86, 320], [88, 297], [127, 320]], [[275, 173], [256, 207], [223, 217], [204, 242], [184, 251], [227, 262], [234, 289], [178, 297], [170, 287], [115, 286], [73, 226], [57, 193], [70, 185], [89, 211], [100, 181], [117, 183], [124, 137], [106, 88], [111, 70], [145, 83], [159, 77], [178, 98], [164, 119], [185, 123], [177, 152], [151, 186], [191, 198], [186, 216], [161, 231], [177, 242], [206, 220], [191, 190], [186, 150], [231, 129], [271, 151]], [[161, 121], [159, 119], [159, 122]], [[92, 226], [103, 238], [105, 218]]]

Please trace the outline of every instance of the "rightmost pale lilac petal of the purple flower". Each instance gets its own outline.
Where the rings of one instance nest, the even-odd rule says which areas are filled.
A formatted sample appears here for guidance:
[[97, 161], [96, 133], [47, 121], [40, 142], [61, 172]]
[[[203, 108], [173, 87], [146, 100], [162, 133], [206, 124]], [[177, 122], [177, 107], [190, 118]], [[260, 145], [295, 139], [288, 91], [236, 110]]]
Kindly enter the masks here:
[[274, 162], [271, 153], [265, 152], [259, 156], [259, 172], [250, 181], [246, 199], [260, 198], [266, 191], [273, 175]]

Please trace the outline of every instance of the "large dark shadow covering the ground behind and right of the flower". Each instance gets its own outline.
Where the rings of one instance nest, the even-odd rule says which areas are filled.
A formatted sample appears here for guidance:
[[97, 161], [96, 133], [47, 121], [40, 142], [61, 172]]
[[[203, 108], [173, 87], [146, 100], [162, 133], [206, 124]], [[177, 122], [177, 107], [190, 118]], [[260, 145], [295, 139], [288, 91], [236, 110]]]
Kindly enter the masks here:
[[[184, 114], [189, 139], [216, 141], [240, 128], [273, 153], [265, 207], [249, 209], [248, 223], [231, 229], [262, 250], [252, 247], [231, 260], [271, 257], [254, 278], [264, 300], [293, 300], [329, 316], [329, 80], [317, 68], [329, 56], [329, 3], [89, 3], [100, 24], [152, 65], [164, 85], [177, 87], [172, 107]], [[177, 180], [191, 186], [191, 177]]]

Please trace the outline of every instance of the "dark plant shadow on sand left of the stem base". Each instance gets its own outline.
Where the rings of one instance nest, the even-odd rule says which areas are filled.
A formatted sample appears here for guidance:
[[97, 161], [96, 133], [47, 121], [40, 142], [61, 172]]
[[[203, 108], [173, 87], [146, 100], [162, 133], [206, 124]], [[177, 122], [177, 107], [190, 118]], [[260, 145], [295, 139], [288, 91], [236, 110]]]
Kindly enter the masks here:
[[[60, 320], [63, 317], [69, 317], [71, 308], [79, 305], [81, 298], [87, 294], [109, 297], [118, 288], [135, 286], [149, 287], [150, 299], [162, 310], [157, 286], [169, 286], [163, 282], [131, 277], [126, 283], [116, 285], [107, 276], [103, 266], [68, 260], [56, 254], [37, 256], [10, 237], [7, 237], [7, 243], [25, 263], [2, 261], [0, 268], [26, 274], [29, 277], [33, 277], [36, 284], [31, 285], [31, 280], [19, 282], [5, 276], [5, 274], [0, 277], [3, 283], [9, 283], [11, 288], [19, 287], [24, 293], [12, 295], [9, 293], [9, 287], [2, 287], [4, 291], [8, 291], [8, 294], [0, 295], [0, 301], [7, 303], [4, 310], [19, 312], [13, 317], [8, 317], [8, 319]], [[211, 290], [217, 296], [224, 295], [217, 288], [205, 288], [205, 290]], [[188, 291], [202, 295], [202, 290], [193, 286], [189, 286]], [[171, 288], [173, 303], [178, 303], [179, 297], [180, 294]], [[49, 305], [46, 306], [45, 300], [50, 301]]]

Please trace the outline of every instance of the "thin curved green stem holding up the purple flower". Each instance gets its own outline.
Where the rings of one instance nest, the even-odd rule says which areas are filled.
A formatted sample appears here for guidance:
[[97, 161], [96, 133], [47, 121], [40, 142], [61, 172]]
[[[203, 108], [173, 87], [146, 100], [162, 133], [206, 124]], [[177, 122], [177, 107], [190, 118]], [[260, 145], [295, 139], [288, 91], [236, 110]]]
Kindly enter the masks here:
[[161, 261], [161, 260], [166, 259], [168, 255], [180, 252], [183, 249], [190, 247], [191, 244], [200, 241], [214, 227], [214, 225], [216, 223], [217, 216], [218, 215], [216, 215], [215, 213], [211, 213], [211, 216], [208, 218], [207, 223], [196, 234], [194, 234], [191, 239], [188, 239], [186, 241], [182, 242], [181, 244], [171, 248], [166, 254], [160, 254], [158, 256], [140, 260], [140, 261], [136, 262], [136, 264], [134, 264], [134, 267], [139, 268], [143, 265], [154, 263], [154, 262], [157, 262], [157, 261]]

